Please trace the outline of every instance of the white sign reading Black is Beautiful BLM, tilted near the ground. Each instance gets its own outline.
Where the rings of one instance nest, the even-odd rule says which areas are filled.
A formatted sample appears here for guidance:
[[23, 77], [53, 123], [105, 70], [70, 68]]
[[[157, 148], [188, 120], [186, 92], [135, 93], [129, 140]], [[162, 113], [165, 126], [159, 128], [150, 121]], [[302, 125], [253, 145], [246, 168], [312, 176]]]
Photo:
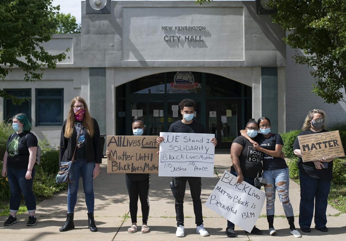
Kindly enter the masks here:
[[225, 219], [251, 232], [260, 216], [265, 193], [225, 171], [212, 193], [206, 206]]

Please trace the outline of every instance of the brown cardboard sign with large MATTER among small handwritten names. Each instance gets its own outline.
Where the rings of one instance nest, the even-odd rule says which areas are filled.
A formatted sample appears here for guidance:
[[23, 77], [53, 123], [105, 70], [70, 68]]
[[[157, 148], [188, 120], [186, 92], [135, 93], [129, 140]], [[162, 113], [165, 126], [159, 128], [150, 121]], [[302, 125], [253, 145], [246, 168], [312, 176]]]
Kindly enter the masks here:
[[303, 162], [344, 157], [339, 131], [298, 136]]

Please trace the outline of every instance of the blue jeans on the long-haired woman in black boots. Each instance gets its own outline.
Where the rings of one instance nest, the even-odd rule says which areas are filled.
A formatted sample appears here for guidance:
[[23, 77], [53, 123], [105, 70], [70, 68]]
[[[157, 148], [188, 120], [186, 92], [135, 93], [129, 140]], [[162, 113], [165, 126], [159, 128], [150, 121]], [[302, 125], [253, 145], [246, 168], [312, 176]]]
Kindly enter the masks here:
[[74, 182], [69, 183], [69, 191], [67, 192], [67, 212], [74, 213], [74, 207], [77, 202], [77, 193], [79, 187], [79, 178], [82, 174], [83, 190], [85, 194], [85, 203], [88, 213], [94, 212], [94, 189], [92, 173], [95, 163], [87, 163], [85, 159], [77, 159], [74, 163]]

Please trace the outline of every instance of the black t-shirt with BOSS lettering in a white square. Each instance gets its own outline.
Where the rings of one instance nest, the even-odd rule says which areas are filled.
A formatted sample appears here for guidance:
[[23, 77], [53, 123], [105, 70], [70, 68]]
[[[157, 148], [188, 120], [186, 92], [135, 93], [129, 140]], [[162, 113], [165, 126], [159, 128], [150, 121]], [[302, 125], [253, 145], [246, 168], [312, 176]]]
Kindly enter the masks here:
[[[255, 150], [245, 137], [238, 136], [233, 143], [243, 146], [242, 153], [239, 156], [240, 169], [242, 169], [243, 176], [257, 177], [258, 170], [262, 168], [263, 153]], [[235, 171], [233, 166], [231, 170]]]

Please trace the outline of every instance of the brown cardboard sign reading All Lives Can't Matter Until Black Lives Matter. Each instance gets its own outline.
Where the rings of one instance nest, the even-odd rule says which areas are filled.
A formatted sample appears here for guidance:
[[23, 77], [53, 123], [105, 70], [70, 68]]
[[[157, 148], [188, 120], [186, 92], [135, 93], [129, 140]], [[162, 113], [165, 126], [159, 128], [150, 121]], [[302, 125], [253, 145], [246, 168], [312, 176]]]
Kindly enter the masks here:
[[107, 173], [158, 173], [157, 136], [108, 136]]

